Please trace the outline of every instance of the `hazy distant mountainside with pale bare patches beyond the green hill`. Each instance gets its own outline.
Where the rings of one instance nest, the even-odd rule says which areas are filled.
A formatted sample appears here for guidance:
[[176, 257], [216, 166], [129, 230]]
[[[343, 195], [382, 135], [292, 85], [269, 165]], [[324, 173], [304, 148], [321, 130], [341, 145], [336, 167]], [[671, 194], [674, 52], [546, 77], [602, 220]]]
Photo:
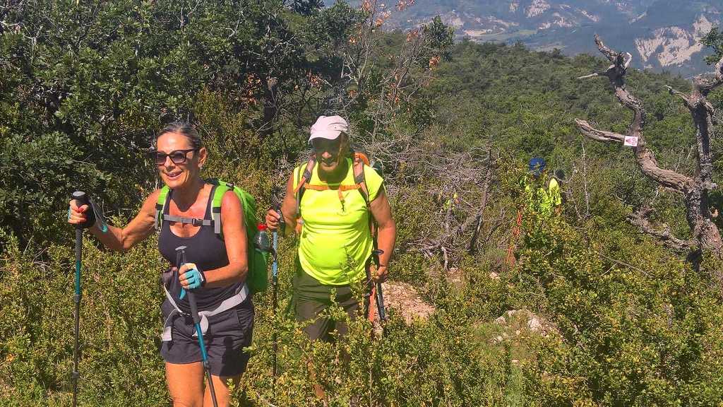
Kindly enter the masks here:
[[722, 12], [722, 0], [417, 0], [390, 23], [411, 28], [440, 15], [459, 38], [522, 41], [570, 55], [596, 53], [599, 33], [633, 54], [638, 68], [693, 75], [709, 70], [699, 40], [721, 24]]

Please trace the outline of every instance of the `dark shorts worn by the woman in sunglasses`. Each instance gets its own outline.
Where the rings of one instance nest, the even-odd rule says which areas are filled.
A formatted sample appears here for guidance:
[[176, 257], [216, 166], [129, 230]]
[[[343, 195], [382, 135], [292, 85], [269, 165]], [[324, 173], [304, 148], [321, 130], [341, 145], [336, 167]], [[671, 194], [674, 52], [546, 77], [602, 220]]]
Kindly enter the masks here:
[[[163, 321], [174, 310], [163, 301]], [[173, 339], [161, 343], [161, 356], [171, 364], [188, 364], [202, 361], [196, 328], [189, 315], [178, 313], [168, 321]], [[251, 345], [254, 327], [254, 305], [251, 298], [221, 314], [208, 317], [208, 330], [203, 335], [208, 353], [211, 374], [215, 376], [238, 376], [246, 370], [249, 353], [244, 347]]]

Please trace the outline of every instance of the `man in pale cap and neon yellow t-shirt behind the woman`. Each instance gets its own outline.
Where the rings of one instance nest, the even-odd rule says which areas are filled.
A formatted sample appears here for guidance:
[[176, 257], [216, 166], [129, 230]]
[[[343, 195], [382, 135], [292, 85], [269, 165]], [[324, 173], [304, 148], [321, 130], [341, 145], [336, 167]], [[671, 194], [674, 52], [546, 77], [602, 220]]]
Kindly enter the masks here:
[[[334, 330], [346, 334], [346, 324], [320, 316], [332, 305], [332, 290], [334, 302], [356, 318], [359, 301], [351, 286], [366, 282], [368, 290], [372, 280], [384, 281], [394, 249], [396, 227], [382, 177], [351, 154], [347, 132], [342, 117], [317, 119], [309, 137], [314, 156], [294, 169], [281, 205], [286, 230], [300, 234], [292, 301], [297, 320], [313, 321], [304, 330], [311, 340], [330, 340]], [[269, 230], [277, 230], [280, 216], [268, 211]], [[378, 268], [372, 267], [372, 229]]]

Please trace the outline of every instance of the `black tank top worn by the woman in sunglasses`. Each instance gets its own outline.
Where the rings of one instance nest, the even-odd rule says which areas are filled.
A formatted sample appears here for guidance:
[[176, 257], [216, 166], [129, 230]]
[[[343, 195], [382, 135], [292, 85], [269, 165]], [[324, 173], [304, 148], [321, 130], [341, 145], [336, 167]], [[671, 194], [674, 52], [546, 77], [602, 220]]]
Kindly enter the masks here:
[[[211, 203], [215, 189], [216, 187], [214, 185], [208, 196], [204, 219], [211, 219]], [[168, 191], [167, 199], [169, 202], [173, 196], [173, 192], [173, 190]], [[166, 205], [166, 208], [163, 209], [163, 214], [168, 214], [169, 206], [170, 205]], [[163, 225], [161, 225], [161, 235], [158, 237], [158, 251], [161, 252], [161, 256], [163, 256], [164, 259], [168, 260], [171, 267], [176, 266], [176, 248], [179, 246], [186, 246], [186, 261], [195, 263], [196, 266], [204, 272], [228, 266], [226, 243], [213, 232], [213, 225], [201, 226], [196, 234], [190, 238], [180, 238], [174, 235], [174, 232], [171, 232], [171, 222], [163, 221]], [[179, 300], [181, 283], [179, 282], [178, 273], [174, 273], [169, 280], [168, 285], [166, 285], [168, 293], [174, 298], [181, 311], [190, 312], [191, 308], [188, 303], [188, 295], [185, 295], [183, 300]], [[194, 294], [199, 311], [215, 309], [223, 300], [231, 298], [238, 293], [243, 285], [243, 282], [234, 282], [231, 285], [221, 288], [197, 288], [197, 290], [194, 290]]]

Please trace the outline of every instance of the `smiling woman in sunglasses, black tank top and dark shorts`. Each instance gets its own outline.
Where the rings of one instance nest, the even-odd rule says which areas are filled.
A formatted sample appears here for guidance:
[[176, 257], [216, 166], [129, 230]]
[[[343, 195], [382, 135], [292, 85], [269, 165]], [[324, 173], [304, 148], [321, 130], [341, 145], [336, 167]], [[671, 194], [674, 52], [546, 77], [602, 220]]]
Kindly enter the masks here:
[[[161, 180], [170, 188], [158, 250], [169, 264], [163, 273], [166, 301], [162, 306], [161, 356], [166, 361], [166, 380], [174, 406], [211, 404], [185, 290], [194, 290], [199, 311], [207, 314], [206, 324], [202, 325], [206, 325], [204, 339], [219, 406], [228, 406], [228, 382], [237, 383], [246, 369], [249, 354], [243, 348], [251, 344], [254, 322], [254, 308], [245, 284], [247, 235], [239, 198], [232, 191], [223, 196], [223, 239], [214, 233], [213, 225], [202, 222], [212, 219], [215, 188], [200, 176], [207, 155], [197, 131], [181, 122], [166, 126], [159, 133], [155, 150], [150, 154]], [[102, 232], [94, 225], [90, 231], [111, 250], [127, 251], [154, 232], [160, 193], [161, 190], [151, 193], [125, 227], [109, 226]], [[68, 222], [85, 222], [87, 211], [87, 205], [78, 206], [76, 201], [70, 201]], [[185, 222], [189, 219], [193, 222]], [[186, 246], [186, 257], [192, 263], [176, 269], [179, 246]]]

